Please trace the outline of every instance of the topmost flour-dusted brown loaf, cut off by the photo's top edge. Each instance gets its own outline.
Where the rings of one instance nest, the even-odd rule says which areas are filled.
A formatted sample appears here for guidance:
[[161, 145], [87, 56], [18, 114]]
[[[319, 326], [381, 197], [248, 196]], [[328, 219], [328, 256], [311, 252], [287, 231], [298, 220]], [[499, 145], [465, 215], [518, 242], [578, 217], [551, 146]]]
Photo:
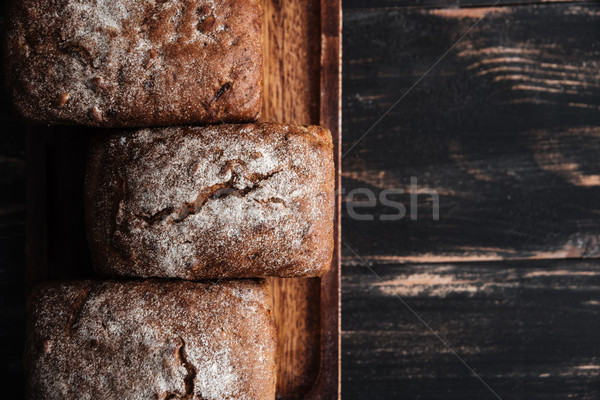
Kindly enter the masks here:
[[6, 81], [28, 120], [122, 127], [259, 116], [259, 0], [11, 1]]

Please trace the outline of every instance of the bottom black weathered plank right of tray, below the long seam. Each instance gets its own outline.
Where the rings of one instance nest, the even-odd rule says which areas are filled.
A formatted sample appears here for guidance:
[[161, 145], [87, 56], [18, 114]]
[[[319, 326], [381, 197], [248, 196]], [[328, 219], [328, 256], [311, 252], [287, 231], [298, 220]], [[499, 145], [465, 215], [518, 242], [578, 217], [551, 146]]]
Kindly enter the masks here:
[[353, 399], [600, 396], [600, 262], [344, 267], [343, 387]]

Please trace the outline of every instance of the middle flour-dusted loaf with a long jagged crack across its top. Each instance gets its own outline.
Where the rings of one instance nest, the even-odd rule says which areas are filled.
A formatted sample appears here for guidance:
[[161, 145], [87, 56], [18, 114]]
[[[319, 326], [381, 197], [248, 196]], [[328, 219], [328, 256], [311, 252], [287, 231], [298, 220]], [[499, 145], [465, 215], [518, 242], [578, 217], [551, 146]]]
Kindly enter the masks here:
[[333, 251], [331, 134], [283, 124], [99, 136], [88, 239], [108, 276], [320, 276]]

